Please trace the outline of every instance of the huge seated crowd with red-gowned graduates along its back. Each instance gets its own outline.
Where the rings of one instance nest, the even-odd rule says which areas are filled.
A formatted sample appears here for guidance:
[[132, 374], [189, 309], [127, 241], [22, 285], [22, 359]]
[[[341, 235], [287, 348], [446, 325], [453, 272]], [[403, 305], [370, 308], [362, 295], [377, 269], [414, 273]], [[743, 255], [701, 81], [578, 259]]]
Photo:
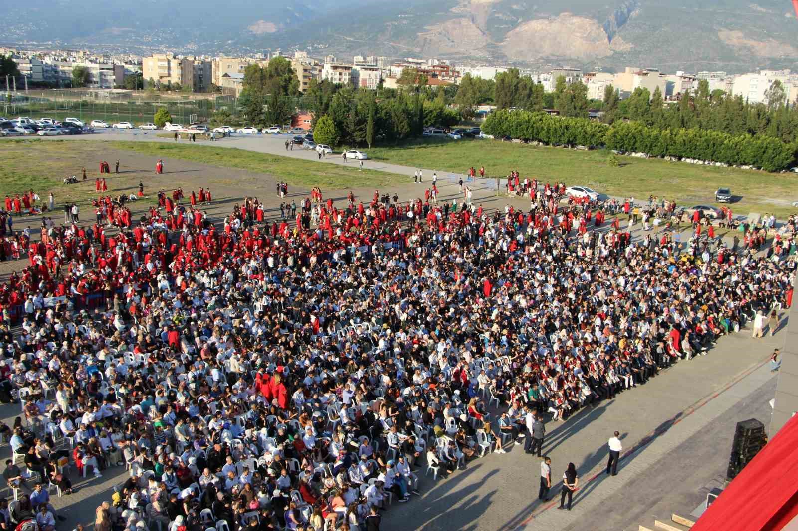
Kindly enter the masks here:
[[[0, 431], [64, 493], [67, 463], [126, 466], [101, 531], [370, 531], [421, 470], [503, 453], [528, 415], [567, 419], [791, 301], [795, 216], [757, 253], [633, 238], [562, 183], [527, 188], [530, 210], [491, 213], [317, 191], [270, 220], [247, 198], [221, 228], [162, 192], [115, 234], [53, 227], [0, 287], [0, 400], [23, 403]], [[36, 518], [18, 489], [10, 525]]]

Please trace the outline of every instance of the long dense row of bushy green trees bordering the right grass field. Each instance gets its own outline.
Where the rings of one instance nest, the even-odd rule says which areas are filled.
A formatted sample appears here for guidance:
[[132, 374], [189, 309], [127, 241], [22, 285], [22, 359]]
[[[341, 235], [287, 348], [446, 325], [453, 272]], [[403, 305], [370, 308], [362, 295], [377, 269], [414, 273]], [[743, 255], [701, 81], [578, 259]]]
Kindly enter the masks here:
[[701, 128], [660, 129], [639, 121], [617, 121], [608, 125], [584, 118], [559, 118], [545, 112], [507, 109], [488, 116], [482, 129], [494, 136], [537, 140], [555, 146], [605, 147], [658, 157], [749, 165], [765, 171], [790, 167], [798, 148], [796, 144], [786, 144], [770, 136], [734, 136]]

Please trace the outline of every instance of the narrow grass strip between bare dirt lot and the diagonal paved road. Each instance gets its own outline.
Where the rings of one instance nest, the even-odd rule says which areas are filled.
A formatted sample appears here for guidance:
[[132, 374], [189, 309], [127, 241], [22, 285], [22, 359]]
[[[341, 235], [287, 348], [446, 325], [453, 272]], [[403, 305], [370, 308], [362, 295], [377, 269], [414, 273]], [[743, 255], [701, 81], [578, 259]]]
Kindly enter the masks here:
[[365, 181], [382, 187], [393, 179], [405, 179], [383, 171], [358, 171], [356, 166], [342, 167], [320, 164], [312, 160], [290, 159], [279, 155], [255, 153], [235, 148], [214, 148], [210, 145], [160, 144], [155, 142], [105, 142], [109, 148], [135, 151], [152, 157], [190, 160], [219, 167], [235, 167], [274, 175], [286, 183], [301, 187], [322, 187], [327, 190], [356, 188]]

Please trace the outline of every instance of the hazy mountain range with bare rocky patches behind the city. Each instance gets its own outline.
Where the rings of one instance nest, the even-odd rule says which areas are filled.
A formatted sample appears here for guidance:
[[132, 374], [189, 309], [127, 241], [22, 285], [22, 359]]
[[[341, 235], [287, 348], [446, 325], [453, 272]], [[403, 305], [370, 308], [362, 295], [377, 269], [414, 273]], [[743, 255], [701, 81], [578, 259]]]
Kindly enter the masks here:
[[[28, 0], [5, 41], [440, 57], [528, 67], [795, 68], [789, 0]], [[2, 38], [2, 37], [0, 37]]]

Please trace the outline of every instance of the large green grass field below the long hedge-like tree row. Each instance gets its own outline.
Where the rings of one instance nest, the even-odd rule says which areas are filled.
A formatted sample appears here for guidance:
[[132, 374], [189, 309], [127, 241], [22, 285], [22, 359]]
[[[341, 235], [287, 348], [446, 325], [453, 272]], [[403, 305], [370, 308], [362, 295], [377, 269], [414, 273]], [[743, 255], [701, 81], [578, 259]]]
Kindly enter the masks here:
[[621, 167], [610, 167], [607, 151], [575, 151], [534, 147], [497, 140], [425, 139], [398, 148], [371, 148], [369, 158], [405, 166], [464, 173], [469, 167], [485, 168], [485, 175], [506, 176], [518, 170], [521, 179], [537, 178], [543, 183], [564, 181], [582, 184], [608, 195], [650, 195], [675, 199], [680, 205], [714, 202], [718, 187], [730, 187], [737, 201], [737, 214], [772, 213], [780, 218], [796, 212], [798, 175], [770, 174], [671, 163], [661, 159], [619, 156]]

